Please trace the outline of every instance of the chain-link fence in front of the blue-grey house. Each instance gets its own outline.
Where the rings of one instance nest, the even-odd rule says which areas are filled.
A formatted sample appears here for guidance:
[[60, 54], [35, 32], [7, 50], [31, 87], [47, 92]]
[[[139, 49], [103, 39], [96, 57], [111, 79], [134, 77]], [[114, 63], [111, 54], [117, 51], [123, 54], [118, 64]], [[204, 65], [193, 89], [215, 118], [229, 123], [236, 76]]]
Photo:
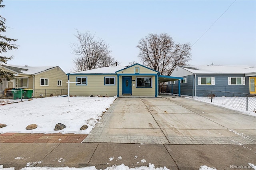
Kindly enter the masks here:
[[[192, 98], [256, 113], [256, 95], [227, 91], [193, 90]], [[199, 97], [198, 97], [199, 96]]]

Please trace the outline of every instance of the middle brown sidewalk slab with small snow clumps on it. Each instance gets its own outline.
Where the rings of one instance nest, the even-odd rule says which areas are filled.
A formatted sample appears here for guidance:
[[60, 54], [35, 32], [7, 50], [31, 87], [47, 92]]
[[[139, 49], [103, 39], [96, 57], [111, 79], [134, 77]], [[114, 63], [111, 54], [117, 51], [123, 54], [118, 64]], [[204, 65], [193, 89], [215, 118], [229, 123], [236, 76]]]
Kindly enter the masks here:
[[177, 170], [172, 157], [162, 144], [109, 144], [100, 143], [88, 166], [105, 169], [112, 165], [124, 164], [129, 168], [154, 164], [156, 168], [166, 166]]

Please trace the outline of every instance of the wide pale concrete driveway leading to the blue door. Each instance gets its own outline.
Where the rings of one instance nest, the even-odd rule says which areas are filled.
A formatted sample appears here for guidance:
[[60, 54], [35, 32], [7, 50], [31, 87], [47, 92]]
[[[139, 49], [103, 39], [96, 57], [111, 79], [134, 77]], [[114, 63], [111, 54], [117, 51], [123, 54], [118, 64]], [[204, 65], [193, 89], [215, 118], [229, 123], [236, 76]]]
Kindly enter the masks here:
[[256, 117], [183, 97], [117, 98], [87, 142], [250, 145]]

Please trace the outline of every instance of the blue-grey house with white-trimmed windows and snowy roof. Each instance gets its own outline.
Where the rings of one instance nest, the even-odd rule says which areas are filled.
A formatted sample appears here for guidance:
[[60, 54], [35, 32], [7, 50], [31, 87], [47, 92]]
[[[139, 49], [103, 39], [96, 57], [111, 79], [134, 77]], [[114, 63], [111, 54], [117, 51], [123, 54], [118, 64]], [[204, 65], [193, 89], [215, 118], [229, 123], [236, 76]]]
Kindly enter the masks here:
[[[184, 78], [182, 95], [206, 96], [209, 91], [256, 94], [256, 67], [252, 66], [184, 65], [176, 67], [171, 76]], [[168, 87], [178, 93], [178, 81], [169, 82]]]

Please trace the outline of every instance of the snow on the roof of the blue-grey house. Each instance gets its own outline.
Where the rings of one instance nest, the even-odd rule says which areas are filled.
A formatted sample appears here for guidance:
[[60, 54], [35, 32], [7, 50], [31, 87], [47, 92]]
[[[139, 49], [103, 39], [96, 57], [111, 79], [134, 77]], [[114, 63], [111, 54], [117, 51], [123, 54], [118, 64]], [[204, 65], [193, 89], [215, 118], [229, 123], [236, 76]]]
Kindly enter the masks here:
[[256, 67], [248, 65], [182, 65], [180, 66], [191, 73], [254, 73]]

